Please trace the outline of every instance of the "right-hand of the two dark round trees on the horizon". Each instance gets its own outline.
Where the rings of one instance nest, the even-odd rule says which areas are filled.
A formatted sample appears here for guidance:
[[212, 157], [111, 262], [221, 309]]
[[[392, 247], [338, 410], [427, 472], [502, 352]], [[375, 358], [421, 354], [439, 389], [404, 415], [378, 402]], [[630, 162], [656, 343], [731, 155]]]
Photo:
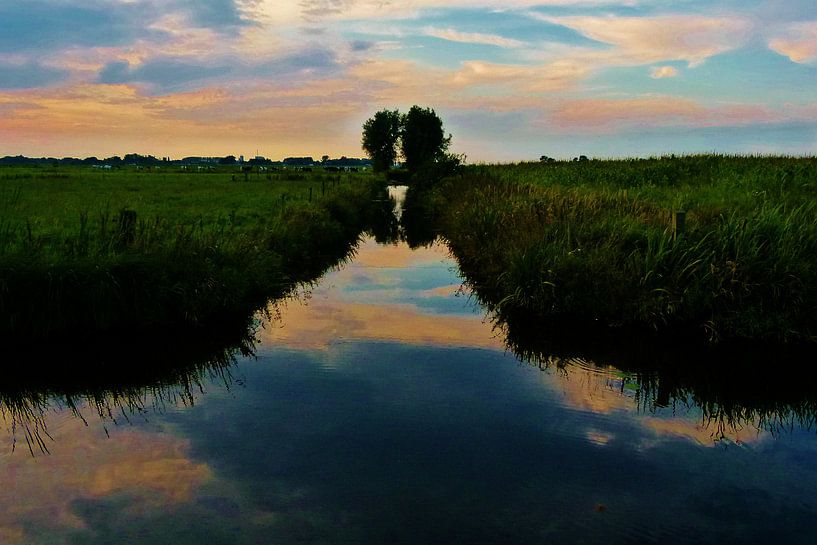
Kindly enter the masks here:
[[409, 172], [442, 161], [451, 136], [445, 136], [443, 121], [431, 108], [412, 106], [403, 119], [401, 134], [403, 158]]

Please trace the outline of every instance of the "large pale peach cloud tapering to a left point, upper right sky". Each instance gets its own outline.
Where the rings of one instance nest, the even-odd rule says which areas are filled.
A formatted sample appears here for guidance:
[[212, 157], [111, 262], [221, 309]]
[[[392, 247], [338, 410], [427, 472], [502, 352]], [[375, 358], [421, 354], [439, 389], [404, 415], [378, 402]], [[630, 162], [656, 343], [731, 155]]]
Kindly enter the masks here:
[[531, 16], [614, 46], [612, 58], [618, 57], [619, 64], [683, 60], [696, 66], [747, 43], [753, 28], [748, 20], [740, 17], [552, 17], [539, 13]]

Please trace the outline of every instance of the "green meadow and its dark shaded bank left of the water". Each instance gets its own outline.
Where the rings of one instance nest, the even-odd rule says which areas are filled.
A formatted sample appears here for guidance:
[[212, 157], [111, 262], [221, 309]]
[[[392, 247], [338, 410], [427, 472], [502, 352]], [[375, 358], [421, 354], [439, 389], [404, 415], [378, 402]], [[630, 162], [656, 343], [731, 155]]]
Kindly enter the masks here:
[[246, 315], [345, 255], [378, 185], [321, 172], [0, 170], [0, 335]]

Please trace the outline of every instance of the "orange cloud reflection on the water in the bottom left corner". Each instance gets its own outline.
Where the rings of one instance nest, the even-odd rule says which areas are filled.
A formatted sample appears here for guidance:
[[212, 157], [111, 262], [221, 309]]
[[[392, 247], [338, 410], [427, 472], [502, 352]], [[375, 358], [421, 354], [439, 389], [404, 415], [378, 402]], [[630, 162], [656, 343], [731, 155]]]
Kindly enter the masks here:
[[[0, 539], [30, 543], [25, 527], [63, 531], [82, 521], [78, 499], [126, 493], [139, 508], [172, 508], [190, 501], [212, 478], [208, 466], [188, 457], [187, 440], [138, 428], [113, 428], [111, 437], [67, 413], [50, 426], [49, 455], [32, 458], [25, 449], [0, 456]], [[80, 461], [81, 463], [78, 463]]]

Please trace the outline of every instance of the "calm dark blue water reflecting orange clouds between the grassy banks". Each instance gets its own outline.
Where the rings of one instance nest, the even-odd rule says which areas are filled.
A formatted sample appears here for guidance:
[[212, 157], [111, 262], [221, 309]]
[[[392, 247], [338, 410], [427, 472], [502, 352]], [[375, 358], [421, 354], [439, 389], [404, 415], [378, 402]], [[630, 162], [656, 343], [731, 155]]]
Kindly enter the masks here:
[[443, 246], [367, 240], [273, 309], [256, 357], [4, 401], [0, 543], [817, 543], [808, 418], [522, 363], [460, 286]]

